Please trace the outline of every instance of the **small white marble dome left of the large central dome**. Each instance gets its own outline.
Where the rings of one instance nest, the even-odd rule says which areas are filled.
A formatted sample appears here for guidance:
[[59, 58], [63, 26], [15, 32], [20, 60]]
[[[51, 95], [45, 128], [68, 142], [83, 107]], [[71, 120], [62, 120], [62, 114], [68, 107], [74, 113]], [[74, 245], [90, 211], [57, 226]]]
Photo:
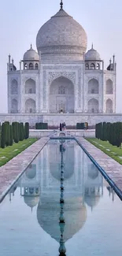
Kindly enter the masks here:
[[32, 49], [32, 46], [24, 54], [24, 61], [39, 61], [39, 54]]

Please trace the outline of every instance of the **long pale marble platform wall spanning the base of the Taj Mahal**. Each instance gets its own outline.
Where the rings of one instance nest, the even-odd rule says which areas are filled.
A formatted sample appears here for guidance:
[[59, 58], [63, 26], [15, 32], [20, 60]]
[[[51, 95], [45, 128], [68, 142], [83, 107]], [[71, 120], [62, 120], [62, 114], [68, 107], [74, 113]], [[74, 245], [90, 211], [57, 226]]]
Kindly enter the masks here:
[[88, 124], [94, 125], [101, 121], [105, 122], [122, 122], [122, 114], [103, 114], [103, 113], [57, 113], [57, 114], [42, 114], [42, 113], [0, 113], [0, 123], [4, 121], [18, 121], [18, 122], [29, 122], [31, 126], [35, 123], [44, 122], [50, 126], [57, 126], [60, 123], [65, 122], [67, 125], [76, 125], [76, 123], [87, 122]]

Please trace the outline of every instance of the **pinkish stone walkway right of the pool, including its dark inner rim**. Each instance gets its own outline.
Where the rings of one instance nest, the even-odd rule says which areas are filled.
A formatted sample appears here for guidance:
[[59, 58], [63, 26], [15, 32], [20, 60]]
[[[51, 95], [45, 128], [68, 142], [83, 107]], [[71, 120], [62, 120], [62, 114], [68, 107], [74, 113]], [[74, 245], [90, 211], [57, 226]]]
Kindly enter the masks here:
[[111, 187], [113, 187], [116, 194], [122, 201], [122, 165], [120, 165], [113, 158], [110, 158], [107, 154], [99, 150], [93, 144], [87, 141], [87, 139], [74, 138], [83, 151], [87, 154], [88, 158], [94, 163], [94, 165], [105, 177]]

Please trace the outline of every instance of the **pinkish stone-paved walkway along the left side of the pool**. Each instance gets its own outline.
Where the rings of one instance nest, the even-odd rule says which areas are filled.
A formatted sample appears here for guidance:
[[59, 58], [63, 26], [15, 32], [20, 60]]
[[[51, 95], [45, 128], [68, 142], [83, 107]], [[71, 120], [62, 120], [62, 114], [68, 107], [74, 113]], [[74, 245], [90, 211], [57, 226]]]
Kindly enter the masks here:
[[0, 201], [7, 193], [9, 187], [24, 173], [31, 161], [34, 160], [39, 151], [43, 149], [49, 138], [39, 139], [26, 150], [11, 159], [6, 165], [0, 167]]

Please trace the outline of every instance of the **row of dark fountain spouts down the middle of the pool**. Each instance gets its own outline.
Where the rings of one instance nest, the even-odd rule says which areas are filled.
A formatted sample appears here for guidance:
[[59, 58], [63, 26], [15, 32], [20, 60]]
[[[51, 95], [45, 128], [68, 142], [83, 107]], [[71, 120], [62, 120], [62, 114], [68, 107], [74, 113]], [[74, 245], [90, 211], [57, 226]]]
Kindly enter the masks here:
[[64, 230], [65, 230], [65, 217], [64, 217], [64, 161], [63, 161], [63, 143], [61, 142], [60, 145], [61, 149], [61, 198], [60, 198], [60, 217], [59, 217], [59, 226], [61, 231], [61, 239], [60, 239], [60, 247], [59, 247], [59, 256], [66, 256], [66, 249], [65, 249], [65, 241], [63, 238]]

